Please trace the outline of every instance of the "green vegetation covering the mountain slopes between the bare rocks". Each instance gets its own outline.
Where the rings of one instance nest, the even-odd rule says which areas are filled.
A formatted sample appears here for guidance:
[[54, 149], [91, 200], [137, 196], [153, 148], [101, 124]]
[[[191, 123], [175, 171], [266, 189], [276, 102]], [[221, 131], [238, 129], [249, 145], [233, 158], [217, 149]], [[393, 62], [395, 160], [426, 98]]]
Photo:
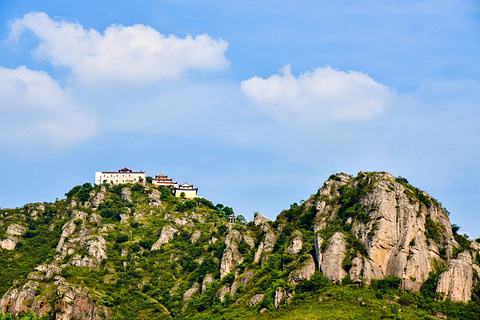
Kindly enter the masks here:
[[[425, 206], [434, 203], [411, 187], [406, 179], [396, 180], [408, 186], [410, 195]], [[97, 268], [73, 266], [69, 264], [73, 255], [89, 255], [87, 246], [75, 248], [74, 254], [61, 258], [59, 263], [64, 267], [60, 275], [71, 285], [84, 288], [97, 305], [108, 307], [110, 319], [435, 319], [438, 315], [449, 319], [478, 318], [477, 302], [455, 304], [437, 300], [435, 287], [444, 270], [442, 266], [430, 274], [419, 293], [404, 292], [397, 277], [375, 280], [370, 287], [352, 284], [348, 277], [342, 285], [337, 285], [319, 272], [296, 286], [289, 282], [292, 271], [311, 259], [310, 255], [315, 256], [313, 244], [317, 236], [323, 239], [322, 249], [328, 246], [334, 233], [345, 236], [347, 254], [342, 266], [347, 271], [354, 257], [366, 255], [365, 248], [352, 234], [352, 226], [373, 224], [370, 213], [376, 208], [361, 203], [376, 183], [375, 175], [365, 173], [341, 187], [336, 198], [326, 199], [337, 205], [339, 214], [319, 234], [314, 232], [313, 221], [317, 214], [316, 201], [321, 196], [317, 194], [292, 204], [272, 223], [272, 229], [282, 231], [268, 259], [259, 263], [254, 263], [255, 251], [265, 240], [265, 228], [247, 223], [241, 215], [237, 216], [236, 224], [228, 224], [228, 218], [234, 213], [230, 207], [215, 205], [203, 198], [177, 198], [168, 187], [76, 186], [66, 194], [66, 200], [45, 204], [45, 210], [37, 217], [30, 207], [0, 210], [1, 234], [13, 221], [27, 226], [15, 251], [0, 251], [3, 263], [0, 294], [4, 294], [14, 280], [24, 283], [36, 266], [52, 261], [62, 226], [73, 221], [75, 230], [69, 237], [101, 235], [106, 240], [108, 259]], [[124, 199], [122, 189], [125, 187], [130, 189], [131, 199]], [[103, 201], [93, 208], [89, 201], [101, 188], [105, 189]], [[160, 195], [161, 204], [150, 205], [152, 194]], [[71, 202], [80, 205], [71, 208]], [[84, 212], [85, 218], [76, 215], [78, 211]], [[430, 217], [426, 224], [427, 238], [439, 242], [441, 226]], [[167, 225], [175, 228], [175, 234], [152, 251], [152, 245]], [[220, 262], [227, 246], [225, 239], [232, 230], [242, 235], [236, 243], [242, 262], [236, 272], [220, 280]], [[458, 250], [470, 245], [470, 240], [459, 235], [458, 229], [454, 228], [454, 234], [460, 244]], [[303, 240], [302, 249], [292, 254], [287, 248], [299, 235]], [[475, 259], [480, 262], [480, 255]], [[202, 292], [202, 282], [210, 276], [213, 281]], [[227, 294], [221, 301], [219, 291], [234, 285], [235, 295]], [[277, 310], [274, 297], [279, 287], [294, 299]], [[191, 288], [198, 291], [184, 301], [184, 293]], [[44, 286], [37, 294], [43, 294], [42, 290], [46, 290]], [[256, 294], [264, 294], [263, 300], [249, 306]], [[480, 292], [474, 292], [473, 297], [479, 299]], [[6, 319], [17, 318], [0, 315], [0, 320]], [[18, 319], [36, 320], [33, 315]]]

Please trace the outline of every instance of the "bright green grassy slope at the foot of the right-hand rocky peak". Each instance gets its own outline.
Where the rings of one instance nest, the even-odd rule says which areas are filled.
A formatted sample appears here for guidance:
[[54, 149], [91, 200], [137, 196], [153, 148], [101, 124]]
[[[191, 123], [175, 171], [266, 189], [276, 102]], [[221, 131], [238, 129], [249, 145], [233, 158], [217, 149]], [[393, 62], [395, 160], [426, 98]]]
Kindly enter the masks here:
[[213, 308], [189, 319], [479, 319], [478, 304], [428, 301], [420, 295], [377, 290], [354, 285], [329, 285], [301, 294], [292, 305], [259, 314], [259, 308], [231, 305]]

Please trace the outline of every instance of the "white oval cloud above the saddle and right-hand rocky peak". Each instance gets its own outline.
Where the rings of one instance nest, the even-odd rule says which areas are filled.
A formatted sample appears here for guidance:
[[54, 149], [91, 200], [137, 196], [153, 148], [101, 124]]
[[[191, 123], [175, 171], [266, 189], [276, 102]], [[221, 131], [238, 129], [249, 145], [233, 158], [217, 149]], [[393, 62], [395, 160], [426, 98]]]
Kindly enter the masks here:
[[318, 120], [360, 120], [381, 114], [392, 91], [367, 74], [329, 66], [292, 75], [289, 66], [268, 78], [242, 81], [256, 109], [280, 122], [314, 124]]

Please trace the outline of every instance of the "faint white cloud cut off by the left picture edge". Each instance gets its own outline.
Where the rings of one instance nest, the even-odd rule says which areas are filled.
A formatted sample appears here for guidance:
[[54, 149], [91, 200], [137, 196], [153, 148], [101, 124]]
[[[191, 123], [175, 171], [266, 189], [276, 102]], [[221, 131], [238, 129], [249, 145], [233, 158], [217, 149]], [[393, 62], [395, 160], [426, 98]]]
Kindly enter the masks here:
[[82, 112], [48, 74], [0, 67], [0, 146], [68, 146], [95, 134]]

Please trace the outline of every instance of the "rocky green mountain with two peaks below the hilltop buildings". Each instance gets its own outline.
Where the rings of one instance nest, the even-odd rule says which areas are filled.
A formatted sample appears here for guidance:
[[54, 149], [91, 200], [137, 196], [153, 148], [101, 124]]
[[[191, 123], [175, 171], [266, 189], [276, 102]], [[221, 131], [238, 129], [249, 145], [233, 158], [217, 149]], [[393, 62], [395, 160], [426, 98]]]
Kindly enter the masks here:
[[[275, 221], [153, 185], [0, 211], [7, 319], [479, 319], [480, 244], [384, 172], [332, 175]], [[0, 316], [2, 319], [2, 316]]]

